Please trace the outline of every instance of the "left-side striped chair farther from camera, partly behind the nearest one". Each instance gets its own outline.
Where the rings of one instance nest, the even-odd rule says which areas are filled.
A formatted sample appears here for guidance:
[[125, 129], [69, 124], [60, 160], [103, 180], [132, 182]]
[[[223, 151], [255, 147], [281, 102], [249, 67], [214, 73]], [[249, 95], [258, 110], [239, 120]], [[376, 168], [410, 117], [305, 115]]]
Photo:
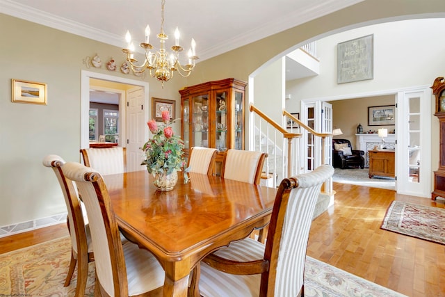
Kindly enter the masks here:
[[70, 230], [72, 249], [70, 268], [68, 268], [67, 278], [63, 285], [67, 287], [70, 284], [77, 264], [76, 296], [83, 296], [88, 280], [88, 263], [94, 261], [94, 254], [92, 252], [90, 228], [83, 219], [85, 214], [81, 209], [76, 185], [63, 178], [61, 170], [63, 164], [65, 164], [65, 161], [55, 154], [45, 156], [43, 159], [43, 165], [52, 168], [56, 173], [68, 211], [67, 225], [68, 230]]

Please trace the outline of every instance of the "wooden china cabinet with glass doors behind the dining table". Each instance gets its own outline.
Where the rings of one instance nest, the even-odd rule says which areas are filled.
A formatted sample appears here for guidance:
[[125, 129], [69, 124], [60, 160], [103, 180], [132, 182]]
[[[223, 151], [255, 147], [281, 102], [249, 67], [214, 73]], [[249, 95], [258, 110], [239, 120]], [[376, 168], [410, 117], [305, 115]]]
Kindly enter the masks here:
[[229, 148], [244, 149], [244, 81], [209, 81], [181, 90], [181, 136], [191, 147], [215, 147], [222, 161]]

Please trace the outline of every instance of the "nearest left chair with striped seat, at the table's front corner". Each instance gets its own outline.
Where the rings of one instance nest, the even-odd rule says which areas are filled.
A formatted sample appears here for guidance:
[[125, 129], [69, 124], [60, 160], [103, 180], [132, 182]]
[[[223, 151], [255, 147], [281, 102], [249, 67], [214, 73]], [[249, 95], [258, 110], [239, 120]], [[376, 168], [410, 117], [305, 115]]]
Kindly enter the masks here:
[[76, 182], [86, 206], [95, 252], [95, 296], [138, 296], [160, 294], [165, 278], [163, 268], [151, 252], [124, 243], [102, 175], [81, 163], [62, 166], [66, 179]]

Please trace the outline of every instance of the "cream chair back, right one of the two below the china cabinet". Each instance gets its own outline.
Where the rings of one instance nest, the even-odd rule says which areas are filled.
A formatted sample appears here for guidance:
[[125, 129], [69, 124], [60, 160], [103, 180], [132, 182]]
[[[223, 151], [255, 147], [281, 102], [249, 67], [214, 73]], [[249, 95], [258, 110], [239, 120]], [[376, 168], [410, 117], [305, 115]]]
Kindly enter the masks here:
[[264, 152], [229, 149], [223, 159], [221, 176], [239, 182], [259, 184], [264, 159], [266, 159]]

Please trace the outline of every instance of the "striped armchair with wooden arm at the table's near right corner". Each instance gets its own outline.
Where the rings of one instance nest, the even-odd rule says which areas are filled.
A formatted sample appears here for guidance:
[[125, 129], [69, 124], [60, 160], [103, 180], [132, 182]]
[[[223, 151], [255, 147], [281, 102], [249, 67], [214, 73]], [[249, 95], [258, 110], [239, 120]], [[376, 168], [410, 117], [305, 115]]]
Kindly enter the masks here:
[[312, 172], [283, 179], [275, 198], [266, 245], [243, 239], [206, 257], [201, 263], [200, 294], [303, 296], [312, 213], [321, 185], [333, 173], [334, 168], [323, 165]]

